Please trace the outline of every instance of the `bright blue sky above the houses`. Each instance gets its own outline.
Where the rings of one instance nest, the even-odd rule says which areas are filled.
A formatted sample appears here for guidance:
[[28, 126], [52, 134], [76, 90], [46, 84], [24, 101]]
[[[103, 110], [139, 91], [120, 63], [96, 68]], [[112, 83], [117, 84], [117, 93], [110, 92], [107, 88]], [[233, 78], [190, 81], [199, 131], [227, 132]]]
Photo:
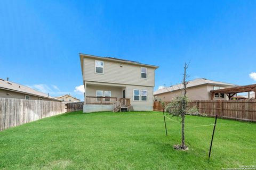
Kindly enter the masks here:
[[0, 78], [52, 96], [83, 99], [78, 53], [159, 65], [155, 89], [189, 61], [190, 79], [256, 83], [256, 1], [8, 0], [0, 23]]

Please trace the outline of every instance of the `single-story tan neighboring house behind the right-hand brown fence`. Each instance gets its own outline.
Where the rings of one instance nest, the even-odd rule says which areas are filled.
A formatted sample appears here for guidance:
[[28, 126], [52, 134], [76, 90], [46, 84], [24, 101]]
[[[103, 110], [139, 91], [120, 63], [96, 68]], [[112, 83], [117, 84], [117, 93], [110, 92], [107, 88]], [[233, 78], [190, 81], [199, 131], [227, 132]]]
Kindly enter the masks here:
[[[195, 79], [189, 81], [187, 85], [187, 96], [190, 100], [210, 100], [211, 90], [223, 89], [228, 87], [235, 87], [236, 84], [224, 83], [220, 81], [213, 81], [207, 79]], [[155, 101], [171, 101], [182, 92], [182, 84], [177, 84], [171, 87], [159, 89], [154, 92]], [[225, 94], [215, 94], [214, 100], [227, 99]]]

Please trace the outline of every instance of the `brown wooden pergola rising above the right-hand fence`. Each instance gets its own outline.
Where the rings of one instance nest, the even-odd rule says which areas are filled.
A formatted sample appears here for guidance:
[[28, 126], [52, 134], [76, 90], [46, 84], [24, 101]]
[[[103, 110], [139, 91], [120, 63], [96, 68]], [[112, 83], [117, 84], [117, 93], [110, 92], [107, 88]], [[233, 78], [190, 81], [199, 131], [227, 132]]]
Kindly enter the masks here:
[[235, 94], [239, 92], [251, 92], [251, 91], [254, 91], [256, 96], [256, 84], [211, 90], [210, 92], [211, 92], [211, 100], [213, 100], [214, 94], [217, 94], [217, 93], [226, 94], [228, 96], [228, 99], [230, 100], [231, 97], [233, 97]]

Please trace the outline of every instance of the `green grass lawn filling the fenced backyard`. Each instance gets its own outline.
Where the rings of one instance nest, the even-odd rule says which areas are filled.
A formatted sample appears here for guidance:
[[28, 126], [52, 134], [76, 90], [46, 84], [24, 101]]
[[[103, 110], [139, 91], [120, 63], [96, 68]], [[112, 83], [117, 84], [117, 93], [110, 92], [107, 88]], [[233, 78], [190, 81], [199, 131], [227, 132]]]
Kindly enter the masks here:
[[256, 165], [256, 124], [217, 121], [210, 162], [207, 155], [214, 118], [187, 116], [188, 151], [180, 143], [180, 123], [161, 112], [73, 112], [0, 132], [0, 169], [221, 169]]

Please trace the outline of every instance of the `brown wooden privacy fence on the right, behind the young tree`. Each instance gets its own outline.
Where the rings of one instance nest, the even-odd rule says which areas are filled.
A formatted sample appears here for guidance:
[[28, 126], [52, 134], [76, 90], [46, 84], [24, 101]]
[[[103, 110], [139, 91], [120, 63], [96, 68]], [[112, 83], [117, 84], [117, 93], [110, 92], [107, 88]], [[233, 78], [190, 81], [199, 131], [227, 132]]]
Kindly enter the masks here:
[[[256, 100], [194, 100], [189, 104], [193, 106], [207, 116], [256, 122]], [[154, 111], [162, 111], [159, 101], [154, 102]]]

